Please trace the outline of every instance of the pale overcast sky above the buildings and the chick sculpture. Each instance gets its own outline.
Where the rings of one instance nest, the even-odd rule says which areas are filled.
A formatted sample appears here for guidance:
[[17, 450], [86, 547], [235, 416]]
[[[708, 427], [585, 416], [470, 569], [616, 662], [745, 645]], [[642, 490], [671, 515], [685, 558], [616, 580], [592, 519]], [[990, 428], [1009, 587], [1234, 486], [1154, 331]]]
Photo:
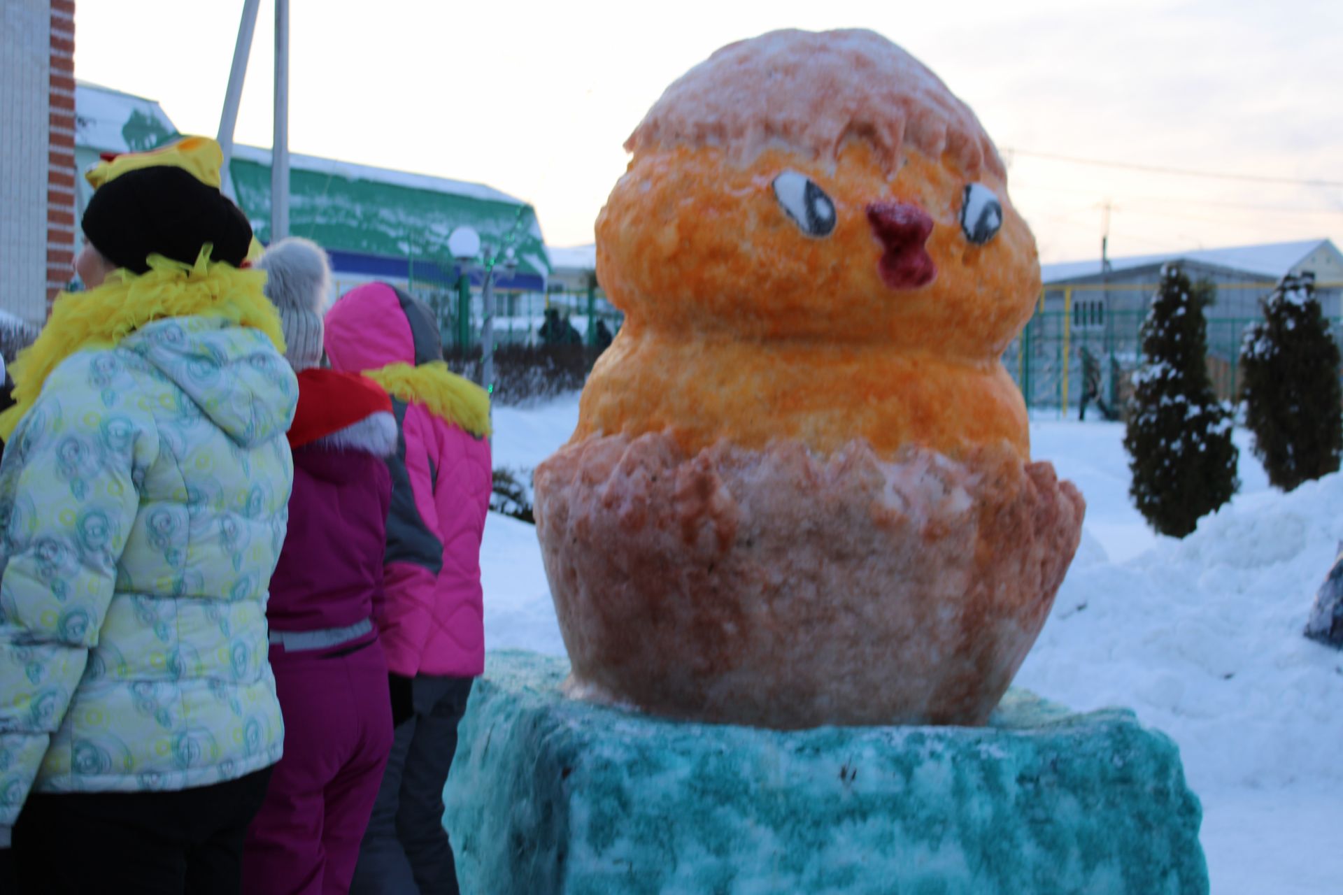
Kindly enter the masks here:
[[[215, 134], [242, 0], [79, 0], [75, 76]], [[262, 0], [236, 140], [271, 142]], [[592, 242], [662, 90], [775, 28], [873, 28], [936, 71], [1009, 162], [1042, 260], [1343, 243], [1343, 1], [291, 0], [290, 150], [485, 182], [552, 246]], [[1053, 156], [1054, 158], [1046, 157]], [[1236, 174], [1193, 177], [1064, 161]], [[1269, 178], [1304, 182], [1266, 182]], [[1323, 182], [1319, 182], [1323, 181]]]

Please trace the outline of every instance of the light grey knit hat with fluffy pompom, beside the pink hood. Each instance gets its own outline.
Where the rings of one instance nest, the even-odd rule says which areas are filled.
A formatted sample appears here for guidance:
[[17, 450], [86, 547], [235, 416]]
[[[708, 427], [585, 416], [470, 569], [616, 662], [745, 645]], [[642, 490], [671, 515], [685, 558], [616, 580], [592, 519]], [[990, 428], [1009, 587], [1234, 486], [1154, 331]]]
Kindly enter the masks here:
[[285, 326], [285, 357], [295, 370], [322, 362], [322, 315], [332, 271], [326, 252], [310, 239], [273, 243], [257, 262], [266, 271], [266, 297]]

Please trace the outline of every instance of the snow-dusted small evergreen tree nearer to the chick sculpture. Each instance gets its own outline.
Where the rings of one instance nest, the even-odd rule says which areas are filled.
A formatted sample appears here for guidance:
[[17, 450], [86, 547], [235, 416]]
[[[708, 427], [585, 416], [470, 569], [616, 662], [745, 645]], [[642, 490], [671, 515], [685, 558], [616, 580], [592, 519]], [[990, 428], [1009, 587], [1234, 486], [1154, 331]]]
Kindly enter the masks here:
[[1203, 307], [1214, 294], [1211, 283], [1195, 287], [1176, 266], [1162, 268], [1124, 432], [1133, 503], [1154, 529], [1178, 538], [1240, 487], [1232, 412], [1207, 376]]

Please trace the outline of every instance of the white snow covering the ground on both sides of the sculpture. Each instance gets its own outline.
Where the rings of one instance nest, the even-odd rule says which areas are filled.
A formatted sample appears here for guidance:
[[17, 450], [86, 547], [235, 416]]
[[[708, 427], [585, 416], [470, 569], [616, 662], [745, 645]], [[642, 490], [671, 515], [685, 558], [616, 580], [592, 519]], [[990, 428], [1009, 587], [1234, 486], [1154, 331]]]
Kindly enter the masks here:
[[[576, 394], [497, 408], [496, 466], [533, 468], [576, 421]], [[1175, 541], [1132, 509], [1121, 439], [1111, 423], [1031, 424], [1033, 456], [1088, 513], [1017, 684], [1128, 706], [1179, 743], [1214, 895], [1343, 892], [1343, 652], [1301, 636], [1343, 541], [1343, 475], [1284, 495], [1238, 431], [1241, 492]], [[482, 566], [489, 645], [564, 655], [535, 529], [492, 514]]]

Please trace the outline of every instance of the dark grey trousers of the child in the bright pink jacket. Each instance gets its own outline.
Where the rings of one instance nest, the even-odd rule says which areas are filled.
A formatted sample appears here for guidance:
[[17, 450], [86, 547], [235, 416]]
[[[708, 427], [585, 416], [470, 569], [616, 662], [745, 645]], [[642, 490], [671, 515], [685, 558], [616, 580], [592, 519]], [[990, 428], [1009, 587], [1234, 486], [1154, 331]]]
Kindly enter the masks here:
[[474, 678], [415, 678], [415, 717], [392, 738], [355, 868], [356, 895], [457, 895], [443, 786]]

